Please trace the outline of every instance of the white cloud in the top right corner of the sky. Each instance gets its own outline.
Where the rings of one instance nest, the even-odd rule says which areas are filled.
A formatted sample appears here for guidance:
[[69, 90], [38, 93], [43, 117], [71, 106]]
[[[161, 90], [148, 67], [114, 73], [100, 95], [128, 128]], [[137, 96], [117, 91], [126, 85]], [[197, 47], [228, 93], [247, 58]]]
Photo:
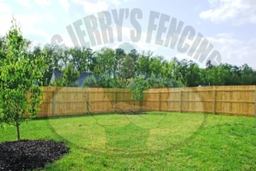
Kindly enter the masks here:
[[255, 0], [208, 0], [210, 9], [202, 11], [201, 19], [221, 23], [232, 20], [234, 24], [256, 23]]

